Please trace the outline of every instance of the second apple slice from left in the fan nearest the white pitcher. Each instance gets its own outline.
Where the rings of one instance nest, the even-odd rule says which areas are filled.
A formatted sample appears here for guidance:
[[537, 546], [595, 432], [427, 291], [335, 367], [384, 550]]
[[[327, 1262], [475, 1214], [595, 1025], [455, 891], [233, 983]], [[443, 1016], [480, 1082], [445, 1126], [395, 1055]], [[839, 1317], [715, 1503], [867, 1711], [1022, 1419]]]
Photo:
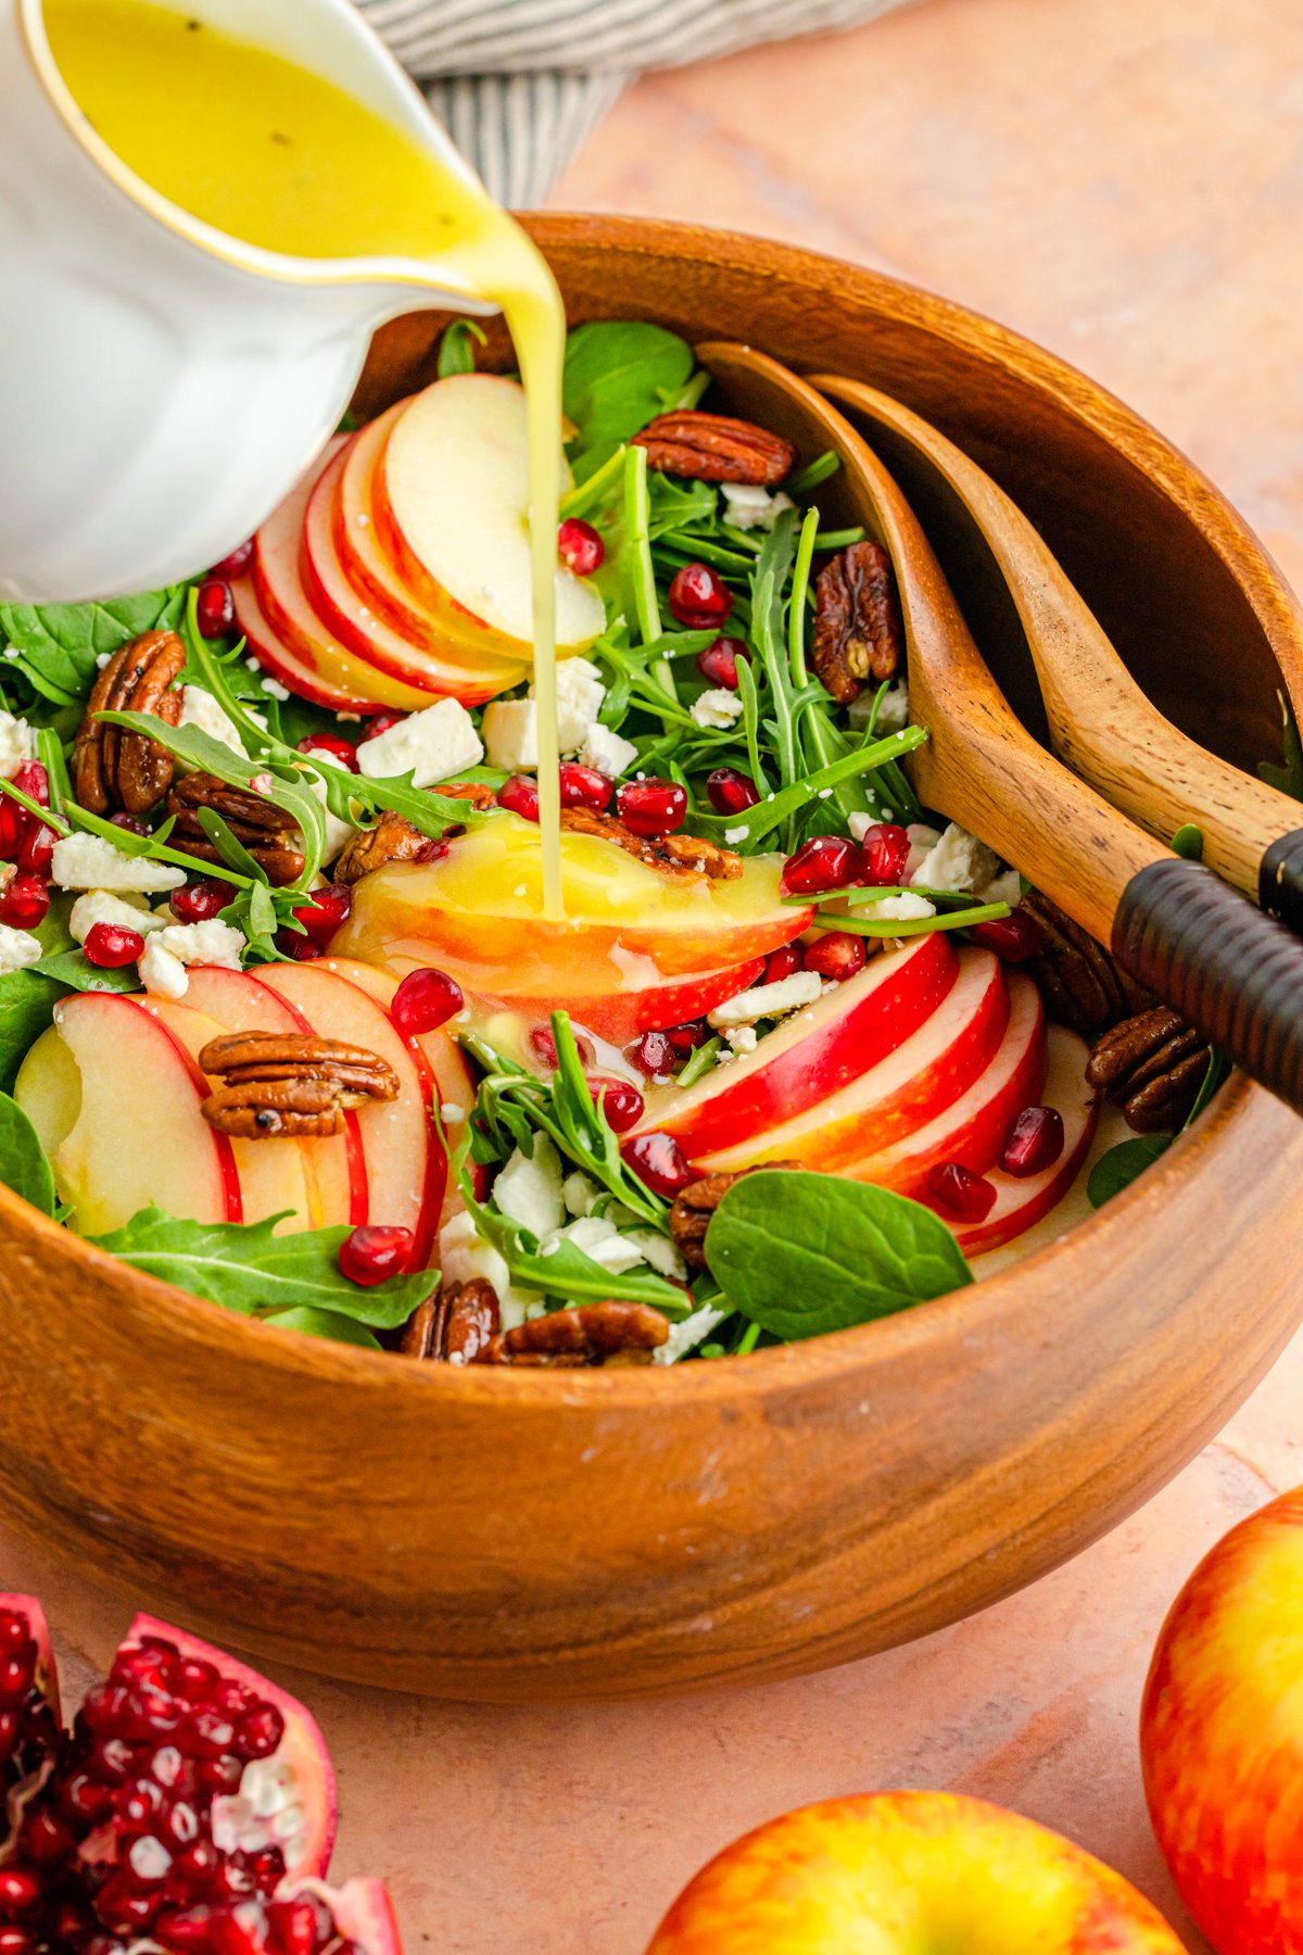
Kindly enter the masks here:
[[352, 583], [336, 547], [334, 518], [348, 456], [346, 448], [326, 463], [309, 495], [303, 518], [299, 569], [316, 616], [346, 651], [365, 659], [367, 665], [404, 682], [420, 673], [432, 690], [457, 696], [467, 706], [518, 686], [527, 676], [527, 667], [520, 659], [502, 659], [488, 641], [473, 649], [445, 628], [440, 630], [438, 618], [428, 618], [418, 631], [397, 630], [389, 616], [375, 608], [371, 594]]

